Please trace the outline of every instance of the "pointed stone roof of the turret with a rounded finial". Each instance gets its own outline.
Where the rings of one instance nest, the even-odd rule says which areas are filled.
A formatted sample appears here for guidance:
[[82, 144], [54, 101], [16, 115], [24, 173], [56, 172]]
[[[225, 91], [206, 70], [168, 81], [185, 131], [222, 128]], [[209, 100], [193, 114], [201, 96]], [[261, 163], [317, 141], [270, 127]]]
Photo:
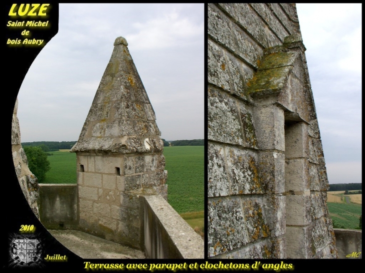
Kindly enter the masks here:
[[71, 152], [162, 151], [153, 108], [123, 37], [114, 42], [77, 143]]

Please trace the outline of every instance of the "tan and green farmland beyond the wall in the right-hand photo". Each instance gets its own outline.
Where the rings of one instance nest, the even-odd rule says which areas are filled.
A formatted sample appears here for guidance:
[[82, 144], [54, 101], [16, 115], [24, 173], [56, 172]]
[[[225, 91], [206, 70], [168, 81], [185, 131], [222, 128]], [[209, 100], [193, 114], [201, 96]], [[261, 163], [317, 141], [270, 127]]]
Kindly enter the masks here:
[[344, 191], [327, 192], [328, 211], [334, 228], [358, 228], [361, 197], [361, 194], [344, 195]]

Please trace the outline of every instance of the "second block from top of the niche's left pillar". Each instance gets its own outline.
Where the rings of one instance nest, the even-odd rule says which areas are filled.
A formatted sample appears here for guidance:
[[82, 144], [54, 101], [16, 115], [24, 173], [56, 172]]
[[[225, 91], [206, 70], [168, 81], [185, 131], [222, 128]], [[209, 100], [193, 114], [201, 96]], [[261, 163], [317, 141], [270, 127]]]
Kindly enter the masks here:
[[260, 151], [258, 161], [262, 188], [265, 192], [283, 193], [285, 155], [282, 152]]

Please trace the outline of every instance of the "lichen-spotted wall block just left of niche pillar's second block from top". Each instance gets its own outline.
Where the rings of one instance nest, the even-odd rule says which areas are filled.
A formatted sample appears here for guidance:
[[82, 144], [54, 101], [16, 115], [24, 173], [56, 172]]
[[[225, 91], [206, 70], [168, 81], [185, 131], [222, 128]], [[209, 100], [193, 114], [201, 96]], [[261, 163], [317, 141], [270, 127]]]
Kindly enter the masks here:
[[262, 194], [266, 191], [261, 183], [256, 153], [232, 146], [225, 148], [225, 154], [232, 194]]

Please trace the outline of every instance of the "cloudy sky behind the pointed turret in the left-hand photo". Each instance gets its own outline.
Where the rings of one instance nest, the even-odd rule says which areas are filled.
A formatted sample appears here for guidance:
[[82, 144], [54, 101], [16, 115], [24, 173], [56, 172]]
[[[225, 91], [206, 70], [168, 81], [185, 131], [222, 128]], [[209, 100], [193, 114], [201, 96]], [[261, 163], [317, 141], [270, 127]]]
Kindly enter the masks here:
[[21, 141], [75, 141], [123, 36], [166, 140], [204, 138], [203, 4], [59, 4], [18, 94]]

